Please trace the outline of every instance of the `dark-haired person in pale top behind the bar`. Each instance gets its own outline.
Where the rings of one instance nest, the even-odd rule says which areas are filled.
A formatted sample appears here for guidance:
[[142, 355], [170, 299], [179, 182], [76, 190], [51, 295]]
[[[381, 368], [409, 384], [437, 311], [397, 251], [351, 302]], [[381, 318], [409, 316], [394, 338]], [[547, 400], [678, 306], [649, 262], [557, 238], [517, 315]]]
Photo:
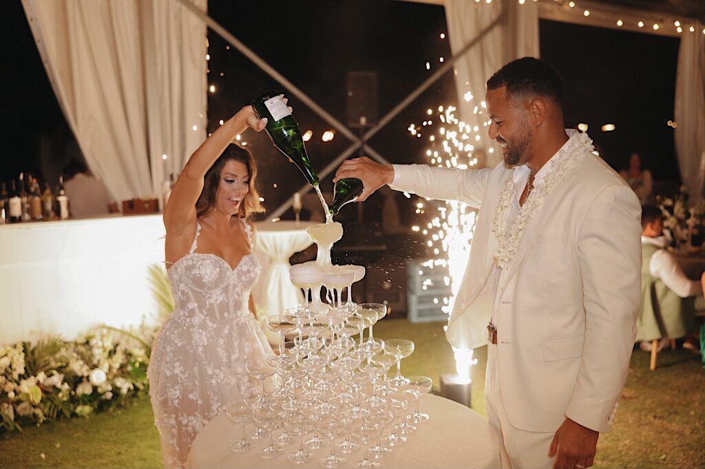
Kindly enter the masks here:
[[87, 218], [118, 211], [102, 181], [91, 175], [85, 162], [72, 158], [63, 168], [63, 187], [71, 203], [71, 218]]

